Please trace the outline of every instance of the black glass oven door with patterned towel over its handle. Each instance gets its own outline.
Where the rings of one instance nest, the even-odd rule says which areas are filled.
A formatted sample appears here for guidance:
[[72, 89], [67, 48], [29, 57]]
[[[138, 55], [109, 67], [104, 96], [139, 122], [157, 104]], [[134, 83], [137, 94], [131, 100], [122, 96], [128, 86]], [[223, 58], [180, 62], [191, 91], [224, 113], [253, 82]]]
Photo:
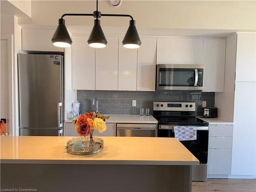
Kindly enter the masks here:
[[[207, 163], [208, 156], [208, 126], [197, 127], [197, 140], [180, 141], [196, 158], [200, 164]], [[174, 125], [158, 125], [158, 137], [175, 137]]]

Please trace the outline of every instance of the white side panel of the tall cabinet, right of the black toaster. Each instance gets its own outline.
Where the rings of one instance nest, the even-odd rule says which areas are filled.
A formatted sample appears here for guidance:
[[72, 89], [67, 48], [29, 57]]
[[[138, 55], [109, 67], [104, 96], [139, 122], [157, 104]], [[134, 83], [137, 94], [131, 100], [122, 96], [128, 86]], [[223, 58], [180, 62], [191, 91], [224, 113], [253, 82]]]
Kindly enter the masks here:
[[226, 39], [224, 92], [215, 93], [215, 106], [218, 108], [218, 116], [229, 121], [233, 121], [236, 52], [237, 34], [233, 33]]

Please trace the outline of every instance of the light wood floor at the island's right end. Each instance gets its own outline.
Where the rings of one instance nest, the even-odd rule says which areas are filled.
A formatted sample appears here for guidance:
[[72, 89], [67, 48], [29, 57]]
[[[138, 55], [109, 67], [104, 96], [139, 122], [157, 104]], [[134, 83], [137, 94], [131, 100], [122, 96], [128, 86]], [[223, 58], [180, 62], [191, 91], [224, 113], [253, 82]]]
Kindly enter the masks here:
[[256, 179], [208, 179], [193, 182], [192, 192], [256, 192]]

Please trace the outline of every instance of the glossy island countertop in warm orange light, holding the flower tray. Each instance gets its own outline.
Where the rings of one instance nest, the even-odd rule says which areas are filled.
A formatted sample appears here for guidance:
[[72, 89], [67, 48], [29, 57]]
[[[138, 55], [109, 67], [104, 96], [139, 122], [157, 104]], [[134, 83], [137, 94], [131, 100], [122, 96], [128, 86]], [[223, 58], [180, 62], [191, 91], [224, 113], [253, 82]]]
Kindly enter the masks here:
[[3, 136], [1, 163], [197, 165], [199, 160], [175, 138], [102, 137], [104, 149], [72, 155], [65, 145], [73, 137]]

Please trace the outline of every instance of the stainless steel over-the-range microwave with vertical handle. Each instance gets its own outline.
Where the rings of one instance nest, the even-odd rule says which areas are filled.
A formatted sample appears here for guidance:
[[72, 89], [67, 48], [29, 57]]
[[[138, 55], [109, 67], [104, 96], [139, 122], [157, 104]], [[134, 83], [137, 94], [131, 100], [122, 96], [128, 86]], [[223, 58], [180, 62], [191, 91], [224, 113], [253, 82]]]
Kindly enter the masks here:
[[203, 90], [203, 65], [157, 65], [157, 90]]

